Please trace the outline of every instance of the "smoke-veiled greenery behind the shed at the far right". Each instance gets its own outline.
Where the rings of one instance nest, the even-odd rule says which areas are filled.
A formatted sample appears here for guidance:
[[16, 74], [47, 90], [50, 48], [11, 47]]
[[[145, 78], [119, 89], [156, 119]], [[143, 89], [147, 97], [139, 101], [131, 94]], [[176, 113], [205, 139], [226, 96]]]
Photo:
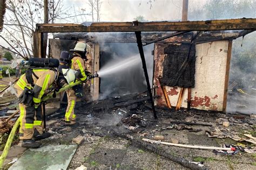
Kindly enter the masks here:
[[[207, 0], [204, 4], [189, 1], [188, 20], [255, 18], [256, 0]], [[230, 67], [230, 83], [236, 81], [239, 88], [255, 88], [256, 32], [233, 40]]]

